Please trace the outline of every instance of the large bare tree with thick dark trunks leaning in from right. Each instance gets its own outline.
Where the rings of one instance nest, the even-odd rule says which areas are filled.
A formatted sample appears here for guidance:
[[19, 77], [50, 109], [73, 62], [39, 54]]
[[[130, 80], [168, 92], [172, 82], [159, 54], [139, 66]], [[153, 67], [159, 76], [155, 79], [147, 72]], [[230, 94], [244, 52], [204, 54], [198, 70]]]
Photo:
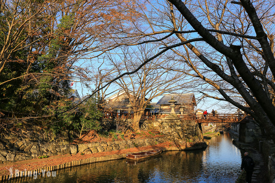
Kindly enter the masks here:
[[[194, 86], [228, 101], [261, 124], [274, 138], [274, 2], [155, 1], [139, 9], [129, 39], [121, 45], [159, 44], [187, 67], [169, 68], [200, 78]], [[131, 39], [130, 39], [131, 37]], [[155, 58], [154, 57], [154, 58]], [[181, 58], [181, 59], [180, 59]], [[173, 60], [174, 58], [172, 58]]]

